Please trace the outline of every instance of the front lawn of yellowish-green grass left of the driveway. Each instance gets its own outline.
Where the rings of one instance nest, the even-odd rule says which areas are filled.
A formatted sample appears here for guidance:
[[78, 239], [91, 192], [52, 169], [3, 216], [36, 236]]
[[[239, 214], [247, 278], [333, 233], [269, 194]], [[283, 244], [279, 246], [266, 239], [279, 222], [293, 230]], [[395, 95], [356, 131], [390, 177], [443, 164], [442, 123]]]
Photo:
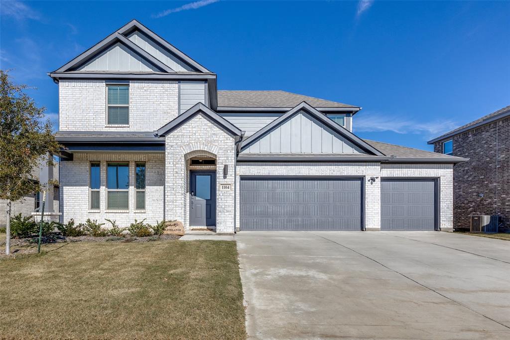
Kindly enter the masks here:
[[0, 338], [246, 338], [235, 242], [44, 249], [0, 259]]

